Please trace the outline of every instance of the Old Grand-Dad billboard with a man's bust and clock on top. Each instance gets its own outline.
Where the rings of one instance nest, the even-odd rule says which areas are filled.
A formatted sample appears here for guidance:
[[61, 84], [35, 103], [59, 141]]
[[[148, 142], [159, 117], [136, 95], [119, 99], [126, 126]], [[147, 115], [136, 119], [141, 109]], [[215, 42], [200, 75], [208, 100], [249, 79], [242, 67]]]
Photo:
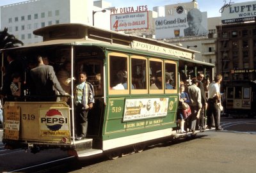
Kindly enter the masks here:
[[182, 6], [174, 15], [155, 19], [156, 39], [182, 36], [207, 36], [207, 12], [191, 9], [186, 13]]

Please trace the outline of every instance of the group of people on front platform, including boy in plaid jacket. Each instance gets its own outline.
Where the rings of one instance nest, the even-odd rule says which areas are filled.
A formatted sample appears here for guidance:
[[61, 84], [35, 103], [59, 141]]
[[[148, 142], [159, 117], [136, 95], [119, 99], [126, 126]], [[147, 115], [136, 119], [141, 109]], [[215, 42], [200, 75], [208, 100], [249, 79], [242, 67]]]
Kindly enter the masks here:
[[[4, 82], [1, 89], [1, 96], [8, 101], [19, 101], [22, 94], [26, 94], [22, 84], [27, 81], [22, 79], [27, 74], [22, 70], [22, 65], [15, 59], [15, 56], [8, 54], [8, 64], [3, 70]], [[31, 101], [56, 102], [56, 91], [62, 96], [70, 96], [71, 93], [71, 63], [65, 63], [63, 70], [55, 73], [53, 66], [44, 63], [44, 57], [35, 56], [35, 62], [29, 69], [29, 91]], [[77, 85], [74, 87], [74, 108], [75, 108], [75, 133], [76, 139], [81, 140], [86, 137], [88, 126], [88, 110], [92, 109], [94, 103], [93, 86], [86, 82], [86, 72], [78, 74]], [[24, 82], [23, 82], [23, 81]], [[60, 82], [59, 82], [60, 80]], [[24, 93], [22, 93], [24, 90]], [[33, 98], [34, 97], [34, 98]]]

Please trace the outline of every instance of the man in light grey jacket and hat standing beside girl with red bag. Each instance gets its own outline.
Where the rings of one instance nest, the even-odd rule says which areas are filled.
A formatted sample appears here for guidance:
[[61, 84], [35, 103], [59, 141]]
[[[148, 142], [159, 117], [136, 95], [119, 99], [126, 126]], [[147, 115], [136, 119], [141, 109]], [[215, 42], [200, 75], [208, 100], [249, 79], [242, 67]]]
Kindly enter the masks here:
[[200, 110], [202, 109], [201, 103], [201, 91], [198, 86], [198, 80], [196, 78], [192, 79], [192, 85], [188, 87], [188, 94], [191, 100], [190, 109], [191, 116], [188, 117], [189, 127], [191, 132], [195, 132], [196, 119], [199, 118]]

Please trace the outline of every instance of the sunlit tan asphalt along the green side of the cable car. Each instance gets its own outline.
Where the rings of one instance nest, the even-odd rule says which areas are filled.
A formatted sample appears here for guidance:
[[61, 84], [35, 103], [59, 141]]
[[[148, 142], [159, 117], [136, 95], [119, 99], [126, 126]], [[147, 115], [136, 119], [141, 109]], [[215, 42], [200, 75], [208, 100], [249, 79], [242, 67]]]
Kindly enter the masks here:
[[166, 142], [73, 172], [255, 172], [256, 135], [207, 131], [185, 142]]

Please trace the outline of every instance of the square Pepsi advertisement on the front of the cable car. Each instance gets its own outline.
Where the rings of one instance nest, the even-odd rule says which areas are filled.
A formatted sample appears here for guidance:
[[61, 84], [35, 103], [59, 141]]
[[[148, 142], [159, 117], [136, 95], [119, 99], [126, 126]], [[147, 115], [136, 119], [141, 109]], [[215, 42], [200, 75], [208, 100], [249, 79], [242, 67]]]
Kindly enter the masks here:
[[42, 108], [39, 115], [40, 136], [70, 136], [68, 108]]

